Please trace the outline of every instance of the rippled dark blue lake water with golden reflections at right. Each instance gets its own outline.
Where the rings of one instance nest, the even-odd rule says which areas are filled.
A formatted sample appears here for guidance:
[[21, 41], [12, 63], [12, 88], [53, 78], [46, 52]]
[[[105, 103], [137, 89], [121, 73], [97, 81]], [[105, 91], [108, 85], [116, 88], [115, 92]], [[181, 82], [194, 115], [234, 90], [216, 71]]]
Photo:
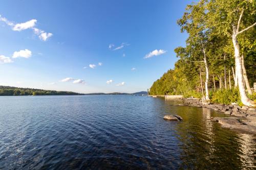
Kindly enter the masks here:
[[2, 96], [0, 169], [255, 169], [255, 135], [212, 116], [148, 96]]

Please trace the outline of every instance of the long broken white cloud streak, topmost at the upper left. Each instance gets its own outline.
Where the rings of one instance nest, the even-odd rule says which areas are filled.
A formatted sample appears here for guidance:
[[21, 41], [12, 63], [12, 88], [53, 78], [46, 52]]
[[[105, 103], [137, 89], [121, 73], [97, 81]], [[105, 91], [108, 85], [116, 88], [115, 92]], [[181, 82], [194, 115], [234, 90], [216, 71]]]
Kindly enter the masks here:
[[35, 28], [35, 25], [37, 22], [36, 19], [31, 19], [29, 21], [22, 22], [22, 23], [14, 23], [0, 15], [0, 21], [5, 22], [8, 26], [10, 26], [12, 28], [13, 31], [23, 31], [23, 30], [27, 30], [27, 29], [32, 29], [34, 34], [36, 34], [43, 41], [46, 41], [48, 38], [53, 36], [52, 33], [47, 33], [44, 30]]

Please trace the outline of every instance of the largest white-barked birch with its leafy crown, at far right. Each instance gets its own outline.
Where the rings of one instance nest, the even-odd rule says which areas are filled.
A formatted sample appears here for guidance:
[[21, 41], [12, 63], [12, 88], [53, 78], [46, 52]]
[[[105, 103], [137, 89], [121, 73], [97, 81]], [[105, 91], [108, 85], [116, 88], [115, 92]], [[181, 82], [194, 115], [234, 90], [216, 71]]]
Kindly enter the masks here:
[[247, 0], [216, 0], [207, 5], [208, 27], [218, 30], [232, 39], [234, 59], [236, 63], [236, 77], [238, 79], [241, 101], [244, 105], [255, 106], [246, 95], [243, 82], [243, 70], [240, 56], [238, 36], [256, 25], [256, 2]]

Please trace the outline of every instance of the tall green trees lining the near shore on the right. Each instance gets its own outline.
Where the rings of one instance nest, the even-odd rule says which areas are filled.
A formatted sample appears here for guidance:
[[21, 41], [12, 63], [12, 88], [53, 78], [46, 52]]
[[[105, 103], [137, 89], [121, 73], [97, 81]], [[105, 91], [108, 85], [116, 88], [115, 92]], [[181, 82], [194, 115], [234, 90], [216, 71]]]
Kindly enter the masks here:
[[255, 106], [256, 1], [201, 0], [187, 5], [177, 22], [187, 32], [179, 60], [150, 88], [152, 95], [182, 94], [203, 103]]

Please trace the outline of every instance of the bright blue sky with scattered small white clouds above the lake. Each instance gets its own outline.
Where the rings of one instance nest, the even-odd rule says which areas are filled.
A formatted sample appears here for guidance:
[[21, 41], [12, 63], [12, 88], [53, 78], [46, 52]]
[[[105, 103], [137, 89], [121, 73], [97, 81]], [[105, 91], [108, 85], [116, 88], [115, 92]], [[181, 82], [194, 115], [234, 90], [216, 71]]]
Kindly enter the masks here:
[[174, 67], [186, 39], [177, 19], [190, 3], [2, 1], [0, 85], [146, 91]]

